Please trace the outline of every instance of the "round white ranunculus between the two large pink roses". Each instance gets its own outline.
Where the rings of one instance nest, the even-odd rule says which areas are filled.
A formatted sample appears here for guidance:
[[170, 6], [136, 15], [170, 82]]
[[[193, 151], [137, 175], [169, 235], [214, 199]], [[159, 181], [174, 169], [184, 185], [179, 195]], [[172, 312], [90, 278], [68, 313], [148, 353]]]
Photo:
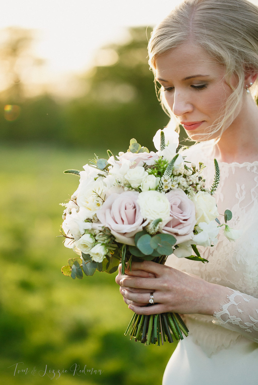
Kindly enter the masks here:
[[137, 203], [143, 218], [149, 220], [161, 218], [163, 221], [170, 218], [170, 203], [161, 192], [155, 190], [140, 192]]

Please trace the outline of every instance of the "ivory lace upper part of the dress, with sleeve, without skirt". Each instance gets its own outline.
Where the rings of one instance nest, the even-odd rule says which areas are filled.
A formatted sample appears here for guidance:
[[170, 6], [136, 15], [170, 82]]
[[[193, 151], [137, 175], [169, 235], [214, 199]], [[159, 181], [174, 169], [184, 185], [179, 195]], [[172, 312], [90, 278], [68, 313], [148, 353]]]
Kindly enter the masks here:
[[[187, 155], [188, 161], [205, 163], [203, 174], [207, 187], [214, 176], [211, 151], [211, 146], [200, 143], [183, 154]], [[258, 161], [221, 163], [219, 166], [221, 181], [215, 195], [218, 212], [232, 211], [228, 225], [241, 231], [240, 238], [230, 242], [220, 234], [216, 246], [198, 246], [201, 255], [209, 261], [206, 264], [173, 255], [168, 261], [170, 266], [228, 287], [228, 296], [214, 317], [185, 316], [196, 343], [208, 355], [232, 345], [243, 338], [241, 335], [258, 342]], [[220, 218], [223, 223], [223, 216]]]

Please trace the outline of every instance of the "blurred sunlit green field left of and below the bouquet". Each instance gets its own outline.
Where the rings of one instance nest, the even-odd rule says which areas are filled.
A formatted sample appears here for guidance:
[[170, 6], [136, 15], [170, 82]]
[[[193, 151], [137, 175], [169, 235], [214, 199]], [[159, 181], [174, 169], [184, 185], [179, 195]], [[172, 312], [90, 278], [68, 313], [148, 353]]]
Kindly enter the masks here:
[[[115, 274], [72, 280], [60, 271], [75, 254], [56, 238], [59, 203], [78, 185], [63, 170], [82, 169], [93, 156], [39, 144], [0, 147], [1, 384], [45, 384], [54, 373], [62, 385], [161, 384], [175, 345], [144, 346], [123, 335], [132, 313]], [[92, 374], [74, 374], [75, 364]]]

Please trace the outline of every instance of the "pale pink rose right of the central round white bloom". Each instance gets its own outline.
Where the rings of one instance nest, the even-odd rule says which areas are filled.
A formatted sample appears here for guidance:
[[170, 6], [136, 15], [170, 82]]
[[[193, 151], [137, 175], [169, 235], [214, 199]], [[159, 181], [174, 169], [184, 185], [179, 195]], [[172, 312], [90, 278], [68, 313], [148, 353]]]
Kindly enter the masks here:
[[162, 228], [162, 233], [171, 234], [176, 244], [193, 238], [195, 227], [195, 204], [181, 189], [174, 189], [165, 194], [170, 202], [170, 220]]

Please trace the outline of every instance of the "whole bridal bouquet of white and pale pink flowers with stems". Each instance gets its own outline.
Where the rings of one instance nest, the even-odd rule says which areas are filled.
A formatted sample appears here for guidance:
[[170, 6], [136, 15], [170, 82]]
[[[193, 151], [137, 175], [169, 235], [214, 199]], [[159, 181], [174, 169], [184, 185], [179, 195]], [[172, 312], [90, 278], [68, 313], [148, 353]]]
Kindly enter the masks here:
[[[225, 226], [225, 235], [233, 240], [234, 230], [220, 224], [213, 194], [220, 170], [215, 161], [215, 177], [210, 188], [202, 176], [203, 163], [186, 162], [176, 154], [178, 134], [168, 128], [159, 130], [153, 142], [156, 152], [149, 152], [131, 139], [127, 152], [108, 159], [95, 159], [84, 171], [67, 170], [80, 176], [78, 189], [63, 204], [61, 234], [64, 245], [77, 257], [68, 260], [62, 273], [73, 279], [93, 275], [96, 270], [114, 273], [122, 263], [143, 259], [164, 264], [168, 255], [208, 262], [196, 246], [213, 246]], [[153, 303], [152, 298], [150, 304]], [[127, 332], [142, 343], [158, 345], [188, 335], [188, 329], [176, 313], [134, 314]]]

